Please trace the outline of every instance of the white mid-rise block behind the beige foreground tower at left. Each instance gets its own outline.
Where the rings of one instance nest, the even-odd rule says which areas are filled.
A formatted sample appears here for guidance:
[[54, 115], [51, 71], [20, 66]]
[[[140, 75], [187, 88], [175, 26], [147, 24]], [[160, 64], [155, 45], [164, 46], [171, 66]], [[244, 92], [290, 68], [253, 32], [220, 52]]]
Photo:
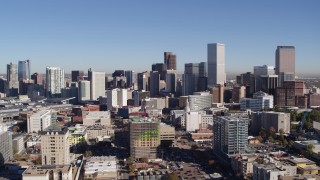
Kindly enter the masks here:
[[28, 133], [43, 131], [51, 125], [51, 110], [41, 110], [27, 119]]

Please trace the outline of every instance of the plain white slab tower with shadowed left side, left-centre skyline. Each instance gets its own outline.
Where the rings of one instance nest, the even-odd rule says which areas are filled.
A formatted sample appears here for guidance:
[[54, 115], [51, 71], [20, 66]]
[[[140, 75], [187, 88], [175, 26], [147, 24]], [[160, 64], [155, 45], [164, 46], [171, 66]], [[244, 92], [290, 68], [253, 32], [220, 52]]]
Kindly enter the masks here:
[[90, 99], [97, 100], [100, 96], [105, 96], [105, 72], [97, 72], [89, 69], [88, 79], [90, 81]]

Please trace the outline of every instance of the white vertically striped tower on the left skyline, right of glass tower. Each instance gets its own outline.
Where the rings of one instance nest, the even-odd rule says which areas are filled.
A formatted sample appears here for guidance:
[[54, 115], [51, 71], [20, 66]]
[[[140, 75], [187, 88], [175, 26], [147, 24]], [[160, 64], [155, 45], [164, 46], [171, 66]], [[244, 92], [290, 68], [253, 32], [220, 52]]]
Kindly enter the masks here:
[[49, 96], [60, 96], [64, 84], [64, 70], [60, 67], [46, 68], [46, 87]]

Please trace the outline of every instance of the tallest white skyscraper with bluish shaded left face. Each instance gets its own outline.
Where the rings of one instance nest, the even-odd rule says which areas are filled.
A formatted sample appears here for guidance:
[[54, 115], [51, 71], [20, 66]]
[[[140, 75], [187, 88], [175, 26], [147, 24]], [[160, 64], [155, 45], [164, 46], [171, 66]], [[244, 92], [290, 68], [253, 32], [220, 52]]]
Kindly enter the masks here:
[[224, 44], [208, 44], [208, 87], [226, 82]]

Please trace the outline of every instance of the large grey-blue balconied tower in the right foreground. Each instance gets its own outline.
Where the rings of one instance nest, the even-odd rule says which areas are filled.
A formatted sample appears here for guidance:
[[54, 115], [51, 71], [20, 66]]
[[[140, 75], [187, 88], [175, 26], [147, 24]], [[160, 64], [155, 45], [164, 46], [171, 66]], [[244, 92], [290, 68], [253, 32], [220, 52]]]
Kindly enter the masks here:
[[213, 119], [213, 150], [216, 154], [245, 153], [248, 145], [248, 117], [241, 114], [215, 116]]

